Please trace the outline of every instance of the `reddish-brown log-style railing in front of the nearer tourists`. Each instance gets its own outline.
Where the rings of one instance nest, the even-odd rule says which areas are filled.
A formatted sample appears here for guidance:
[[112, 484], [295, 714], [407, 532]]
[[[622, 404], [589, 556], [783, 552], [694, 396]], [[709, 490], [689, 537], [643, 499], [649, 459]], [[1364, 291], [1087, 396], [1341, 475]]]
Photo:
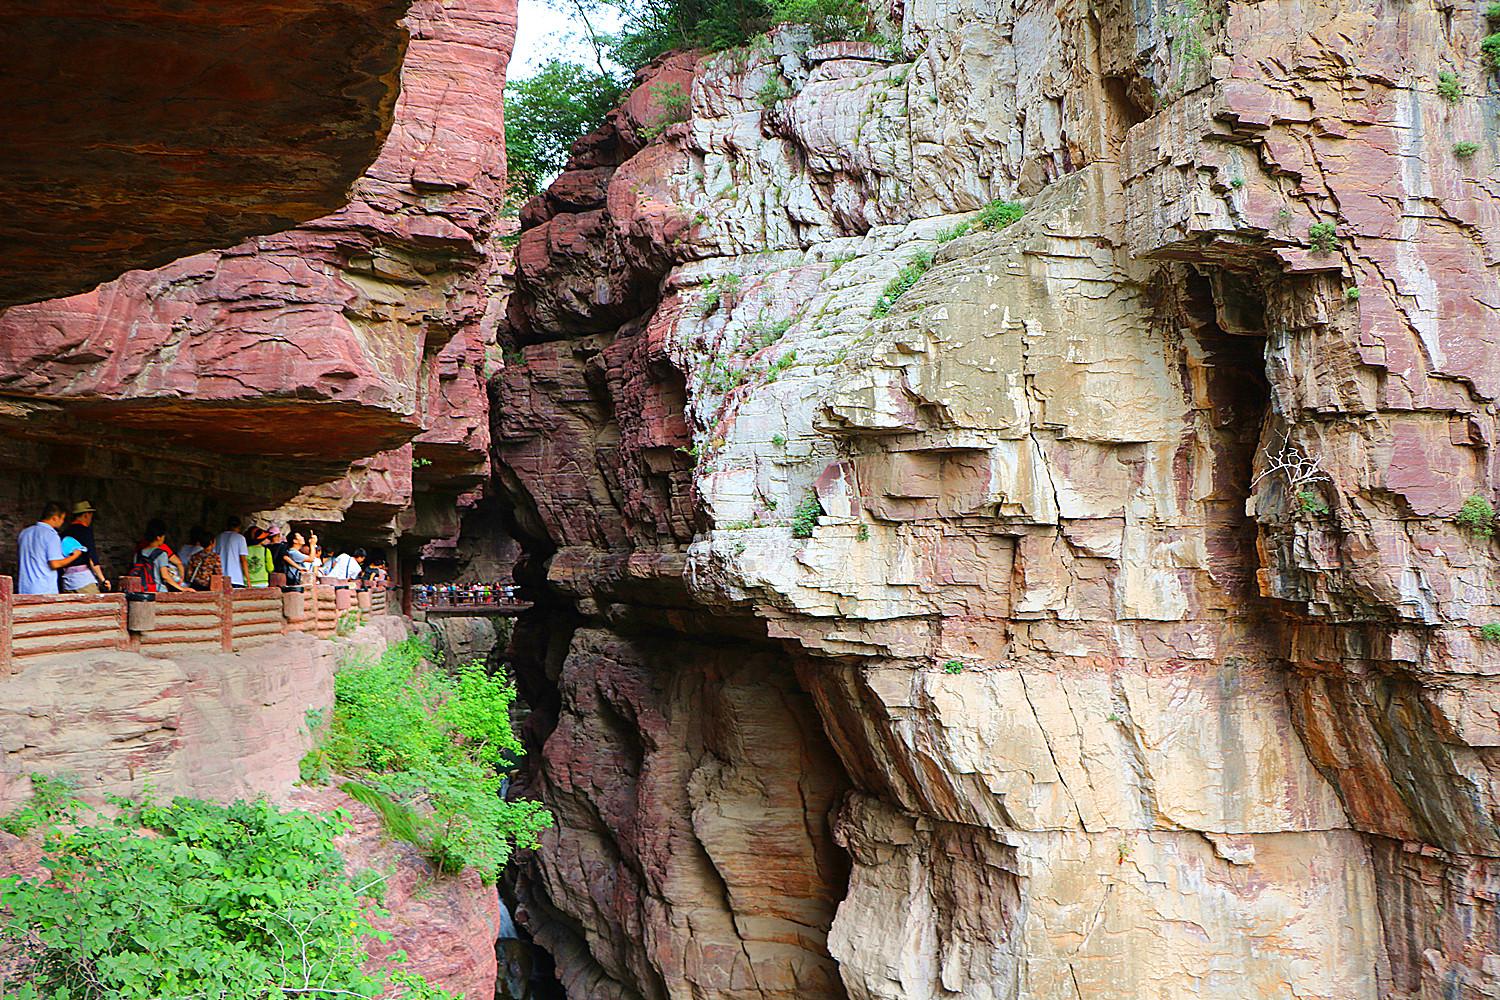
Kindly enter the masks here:
[[214, 577], [208, 591], [186, 594], [15, 594], [0, 576], [0, 675], [42, 657], [129, 649], [154, 657], [232, 652], [290, 633], [336, 634], [351, 610], [384, 615], [386, 591], [320, 583], [285, 589], [230, 588]]

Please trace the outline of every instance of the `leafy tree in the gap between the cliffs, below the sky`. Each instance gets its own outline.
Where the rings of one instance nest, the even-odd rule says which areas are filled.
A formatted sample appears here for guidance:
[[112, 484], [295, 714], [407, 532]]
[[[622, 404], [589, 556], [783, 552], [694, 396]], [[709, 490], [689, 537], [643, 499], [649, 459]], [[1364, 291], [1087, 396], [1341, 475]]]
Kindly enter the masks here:
[[606, 69], [554, 58], [506, 85], [506, 154], [522, 198], [567, 166], [568, 148], [620, 103], [624, 81]]

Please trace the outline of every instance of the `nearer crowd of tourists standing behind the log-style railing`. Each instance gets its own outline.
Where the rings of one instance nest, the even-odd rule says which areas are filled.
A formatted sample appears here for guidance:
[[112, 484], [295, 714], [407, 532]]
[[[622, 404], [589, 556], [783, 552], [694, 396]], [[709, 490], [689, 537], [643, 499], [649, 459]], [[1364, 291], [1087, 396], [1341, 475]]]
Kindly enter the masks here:
[[[94, 541], [94, 507], [78, 501], [70, 508], [50, 502], [34, 525], [18, 538], [20, 565], [16, 594], [99, 594], [111, 589]], [[195, 525], [188, 541], [174, 547], [166, 522], [146, 522], [130, 555], [130, 565], [120, 577], [140, 582], [146, 594], [207, 591], [218, 576], [230, 586], [270, 586], [272, 574], [286, 577], [288, 589], [316, 582], [334, 589], [381, 589], [388, 583], [384, 558], [372, 559], [364, 549], [324, 552], [316, 532], [278, 523], [246, 526], [230, 517], [224, 531], [213, 534]]]

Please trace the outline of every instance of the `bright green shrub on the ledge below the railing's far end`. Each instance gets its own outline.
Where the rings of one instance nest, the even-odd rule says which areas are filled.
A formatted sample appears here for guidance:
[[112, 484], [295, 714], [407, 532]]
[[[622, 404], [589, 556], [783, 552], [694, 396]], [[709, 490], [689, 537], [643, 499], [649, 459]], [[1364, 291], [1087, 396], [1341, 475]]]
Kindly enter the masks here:
[[534, 847], [550, 825], [537, 802], [501, 796], [500, 772], [522, 756], [510, 729], [516, 690], [480, 661], [450, 676], [426, 664], [430, 655], [408, 639], [339, 670], [328, 732], [303, 772], [356, 778], [351, 795], [387, 822], [399, 817], [393, 835], [444, 871], [472, 867], [494, 882], [512, 849]]

